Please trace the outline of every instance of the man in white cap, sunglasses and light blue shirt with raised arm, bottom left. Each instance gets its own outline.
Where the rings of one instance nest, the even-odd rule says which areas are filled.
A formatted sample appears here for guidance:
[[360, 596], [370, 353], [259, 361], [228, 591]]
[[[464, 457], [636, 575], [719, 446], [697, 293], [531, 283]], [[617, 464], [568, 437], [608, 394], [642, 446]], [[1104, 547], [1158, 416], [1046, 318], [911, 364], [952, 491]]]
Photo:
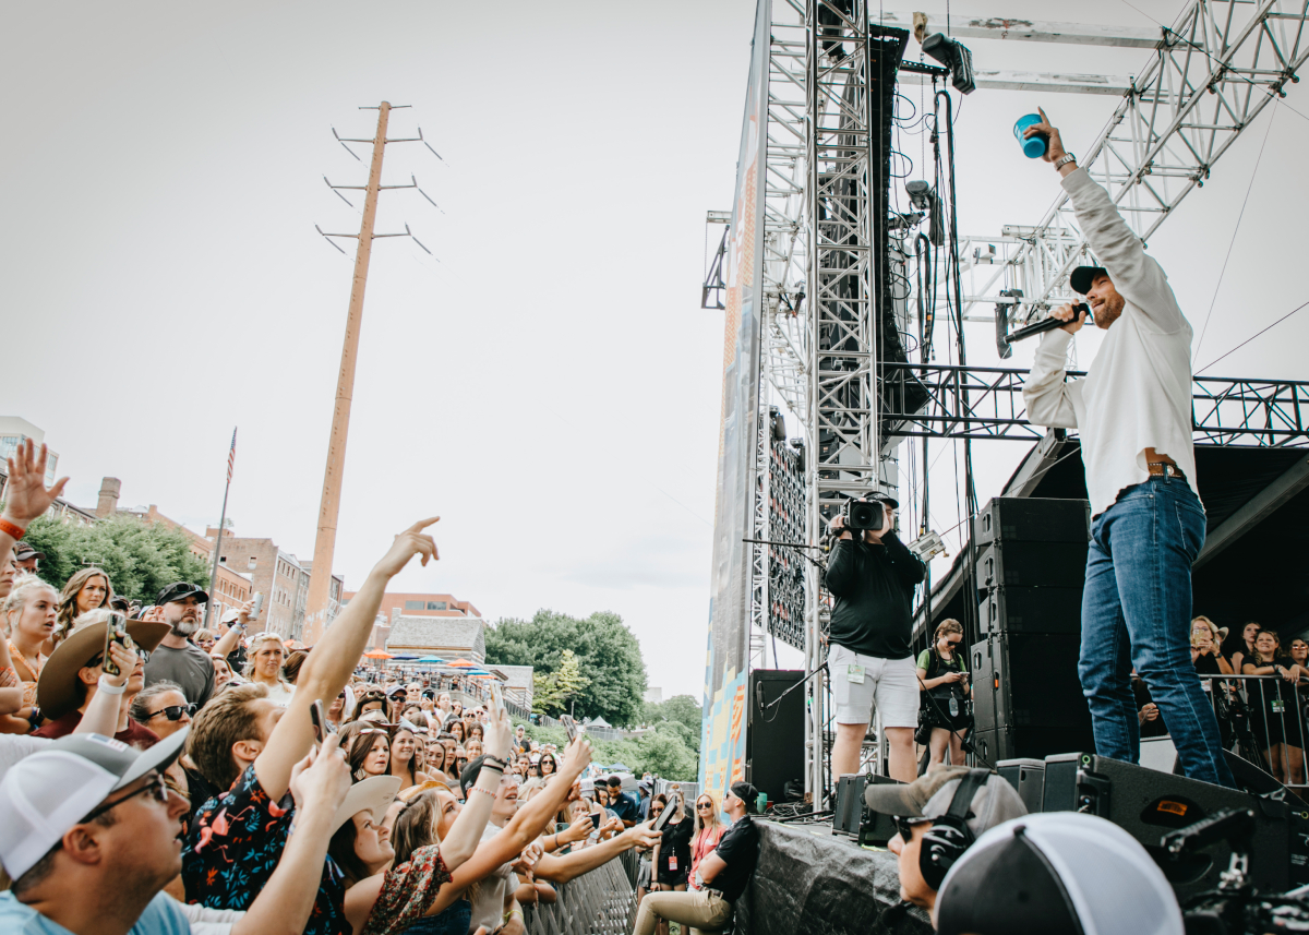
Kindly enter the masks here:
[[[164, 892], [181, 868], [186, 799], [164, 783], [187, 731], [145, 752], [99, 735], [54, 741], [0, 782], [0, 931], [72, 935], [188, 935], [207, 918]], [[300, 773], [296, 834], [236, 932], [297, 935], [314, 905], [306, 872], [327, 854], [350, 767], [323, 744]]]

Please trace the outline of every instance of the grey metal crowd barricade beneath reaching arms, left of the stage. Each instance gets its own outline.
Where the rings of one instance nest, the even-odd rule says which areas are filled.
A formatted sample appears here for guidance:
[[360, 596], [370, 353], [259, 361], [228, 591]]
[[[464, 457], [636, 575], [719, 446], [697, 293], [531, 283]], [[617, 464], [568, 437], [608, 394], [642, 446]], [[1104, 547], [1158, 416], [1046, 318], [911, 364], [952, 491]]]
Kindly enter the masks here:
[[524, 908], [528, 935], [627, 935], [636, 922], [636, 856], [624, 851], [576, 880], [555, 884], [551, 905]]

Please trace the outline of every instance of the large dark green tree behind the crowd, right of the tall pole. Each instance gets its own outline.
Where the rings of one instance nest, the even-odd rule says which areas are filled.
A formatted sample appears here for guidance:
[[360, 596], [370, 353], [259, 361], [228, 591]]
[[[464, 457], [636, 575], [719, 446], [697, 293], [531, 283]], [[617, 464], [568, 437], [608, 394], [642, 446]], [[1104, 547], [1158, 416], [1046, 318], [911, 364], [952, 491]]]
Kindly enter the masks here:
[[486, 640], [490, 665], [530, 665], [534, 674], [559, 672], [564, 652], [572, 651], [580, 674], [590, 681], [577, 690], [579, 719], [605, 718], [624, 727], [641, 719], [645, 663], [640, 643], [618, 614], [602, 610], [579, 619], [538, 610], [530, 621], [497, 621], [487, 627]]

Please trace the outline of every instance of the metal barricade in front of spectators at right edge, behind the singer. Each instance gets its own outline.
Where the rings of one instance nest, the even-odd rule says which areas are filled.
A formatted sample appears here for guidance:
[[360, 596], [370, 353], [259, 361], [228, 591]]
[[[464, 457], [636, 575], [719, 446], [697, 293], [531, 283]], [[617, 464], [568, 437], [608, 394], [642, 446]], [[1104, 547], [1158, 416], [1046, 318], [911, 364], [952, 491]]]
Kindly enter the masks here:
[[1219, 722], [1223, 746], [1283, 784], [1305, 790], [1309, 677], [1202, 676]]

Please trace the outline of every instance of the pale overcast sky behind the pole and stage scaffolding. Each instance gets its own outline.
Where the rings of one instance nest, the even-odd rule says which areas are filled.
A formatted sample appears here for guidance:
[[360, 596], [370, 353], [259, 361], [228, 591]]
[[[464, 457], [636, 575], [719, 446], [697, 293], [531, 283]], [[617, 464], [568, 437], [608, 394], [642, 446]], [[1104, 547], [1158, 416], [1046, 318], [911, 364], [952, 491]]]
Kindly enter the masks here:
[[[1135, 5], [953, 10], [1149, 25], [1182, 8]], [[403, 238], [374, 246], [335, 570], [356, 588], [394, 532], [439, 513], [441, 562], [395, 589], [449, 592], [492, 619], [617, 612], [649, 684], [699, 695], [723, 350], [721, 313], [699, 308], [704, 212], [732, 203], [753, 14], [751, 0], [0, 7], [0, 411], [46, 431], [73, 502], [118, 477], [123, 505], [202, 532], [240, 426], [236, 532], [312, 558], [353, 257], [314, 224], [357, 229], [322, 177], [365, 179], [331, 128], [370, 136], [376, 111], [357, 106], [412, 105], [391, 135], [420, 124], [446, 164], [389, 147], [384, 181], [415, 174], [444, 213], [410, 191], [382, 198], [378, 232], [408, 223], [436, 258]], [[974, 52], [979, 68], [1034, 71], [1145, 60]], [[1077, 152], [1115, 100], [969, 97], [963, 232], [1037, 223], [1056, 194], [1009, 132], [1038, 103]], [[1309, 98], [1292, 85], [1287, 105], [1253, 185], [1274, 109], [1149, 245], [1198, 334], [1212, 302], [1200, 365], [1304, 301], [1309, 119], [1291, 107], [1309, 114]], [[912, 177], [919, 145], [902, 143]], [[1212, 372], [1302, 377], [1306, 331], [1293, 318]], [[970, 361], [995, 361], [990, 325], [969, 340]], [[1094, 347], [1081, 340], [1083, 364]], [[982, 500], [1024, 450], [978, 445]], [[937, 464], [944, 529], [953, 465]]]

